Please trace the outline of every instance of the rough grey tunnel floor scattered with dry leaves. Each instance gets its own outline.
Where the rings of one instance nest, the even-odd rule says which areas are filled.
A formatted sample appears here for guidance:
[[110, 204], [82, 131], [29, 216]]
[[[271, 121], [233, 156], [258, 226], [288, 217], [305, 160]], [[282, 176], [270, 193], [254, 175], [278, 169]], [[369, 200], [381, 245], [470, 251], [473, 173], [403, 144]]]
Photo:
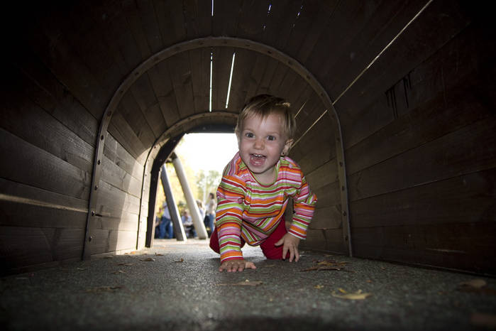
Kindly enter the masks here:
[[[207, 242], [153, 249], [0, 278], [2, 330], [495, 330], [496, 279], [304, 251], [219, 273]], [[151, 261], [151, 259], [154, 261]], [[341, 271], [302, 271], [316, 261]], [[150, 261], [147, 261], [150, 260]], [[481, 278], [483, 290], [459, 291]], [[262, 282], [258, 286], [239, 283]], [[255, 283], [253, 283], [255, 282]], [[363, 291], [365, 300], [336, 298]]]

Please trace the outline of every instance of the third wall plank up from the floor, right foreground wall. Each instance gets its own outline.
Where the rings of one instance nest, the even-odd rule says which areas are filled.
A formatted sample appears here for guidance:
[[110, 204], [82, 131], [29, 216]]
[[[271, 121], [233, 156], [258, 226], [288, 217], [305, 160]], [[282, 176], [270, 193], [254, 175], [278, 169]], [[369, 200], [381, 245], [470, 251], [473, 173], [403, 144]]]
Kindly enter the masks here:
[[348, 177], [351, 201], [496, 166], [496, 120], [482, 120]]

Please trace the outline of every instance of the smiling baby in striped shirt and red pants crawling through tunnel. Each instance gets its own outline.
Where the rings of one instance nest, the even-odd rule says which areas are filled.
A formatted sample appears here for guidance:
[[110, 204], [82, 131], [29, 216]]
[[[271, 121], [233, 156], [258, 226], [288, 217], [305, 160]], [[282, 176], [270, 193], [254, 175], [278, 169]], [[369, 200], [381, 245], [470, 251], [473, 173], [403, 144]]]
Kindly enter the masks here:
[[[268, 94], [253, 97], [236, 124], [239, 151], [226, 165], [217, 189], [216, 229], [210, 247], [221, 254], [219, 271], [256, 268], [241, 247], [260, 245], [268, 259], [299, 260], [316, 196], [299, 166], [287, 157], [296, 121], [290, 104]], [[289, 197], [294, 215], [289, 230], [284, 213]]]

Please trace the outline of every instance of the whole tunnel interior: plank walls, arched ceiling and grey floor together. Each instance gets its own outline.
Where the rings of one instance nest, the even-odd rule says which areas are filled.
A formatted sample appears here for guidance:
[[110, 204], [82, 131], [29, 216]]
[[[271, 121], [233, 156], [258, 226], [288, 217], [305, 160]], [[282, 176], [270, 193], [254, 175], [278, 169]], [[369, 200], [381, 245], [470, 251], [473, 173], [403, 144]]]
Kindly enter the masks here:
[[[466, 1], [4, 8], [7, 330], [480, 330], [495, 322], [495, 31]], [[298, 263], [153, 242], [161, 165], [287, 99], [318, 202]], [[29, 318], [26, 318], [28, 316]]]

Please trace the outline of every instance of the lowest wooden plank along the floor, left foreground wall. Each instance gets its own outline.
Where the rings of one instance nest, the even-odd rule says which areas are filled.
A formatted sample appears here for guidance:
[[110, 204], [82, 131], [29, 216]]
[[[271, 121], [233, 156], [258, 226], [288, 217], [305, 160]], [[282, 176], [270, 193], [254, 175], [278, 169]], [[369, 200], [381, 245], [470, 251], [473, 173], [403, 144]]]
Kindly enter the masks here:
[[2, 271], [80, 258], [83, 240], [84, 229], [0, 226]]

